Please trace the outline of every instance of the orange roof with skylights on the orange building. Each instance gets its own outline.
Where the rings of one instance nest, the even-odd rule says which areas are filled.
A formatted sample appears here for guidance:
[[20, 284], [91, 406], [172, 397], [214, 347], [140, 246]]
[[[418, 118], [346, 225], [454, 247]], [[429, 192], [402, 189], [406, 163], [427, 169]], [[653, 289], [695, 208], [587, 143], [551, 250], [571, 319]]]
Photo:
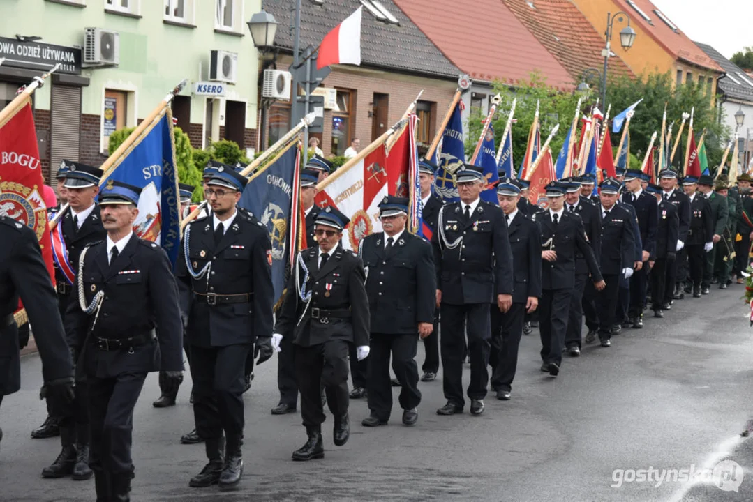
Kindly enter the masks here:
[[[690, 38], [687, 38], [687, 35], [681, 29], [672, 29], [669, 24], [665, 23], [657, 14], [658, 9], [650, 0], [630, 0], [630, 2], [626, 2], [626, 0], [612, 1], [614, 5], [617, 5], [617, 8], [628, 13], [630, 20], [638, 23], [645, 32], [651, 35], [675, 59], [681, 59], [684, 62], [689, 62], [702, 68], [709, 68], [720, 73], [724, 72], [721, 66], [694, 44]], [[642, 17], [636, 8], [630, 5], [631, 3], [646, 14], [651, 19], [651, 22]], [[662, 15], [666, 17], [666, 14], [662, 13]], [[666, 17], [666, 19], [669, 19], [669, 17]]]

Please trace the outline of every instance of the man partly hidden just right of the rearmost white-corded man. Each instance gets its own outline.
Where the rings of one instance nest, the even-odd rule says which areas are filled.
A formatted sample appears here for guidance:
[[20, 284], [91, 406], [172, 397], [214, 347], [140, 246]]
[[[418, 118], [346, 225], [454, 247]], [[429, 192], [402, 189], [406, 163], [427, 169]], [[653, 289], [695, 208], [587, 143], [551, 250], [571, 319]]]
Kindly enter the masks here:
[[[565, 205], [562, 207], [567, 213], [578, 214], [581, 217], [593, 255], [599, 256], [602, 248], [602, 220], [599, 210], [588, 199], [581, 196], [580, 178], [566, 178], [562, 180], [562, 184], [565, 185], [566, 190]], [[581, 251], [575, 251], [575, 284], [570, 297], [565, 333], [565, 347], [573, 357], [581, 355], [584, 304], [587, 306], [593, 304], [596, 299], [596, 290], [593, 288], [593, 281], [588, 280], [588, 275], [586, 257]], [[596, 312], [595, 307], [593, 312]]]

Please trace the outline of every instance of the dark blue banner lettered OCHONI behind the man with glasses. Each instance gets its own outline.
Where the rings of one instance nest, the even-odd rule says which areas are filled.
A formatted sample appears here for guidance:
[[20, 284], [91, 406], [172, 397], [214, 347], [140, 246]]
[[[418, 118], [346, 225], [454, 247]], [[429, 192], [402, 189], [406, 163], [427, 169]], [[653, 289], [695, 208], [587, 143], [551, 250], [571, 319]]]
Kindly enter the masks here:
[[[270, 233], [272, 250], [267, 257], [272, 263], [272, 284], [275, 300], [285, 289], [285, 266], [293, 263], [286, 257], [291, 248], [296, 248], [295, 236], [298, 206], [298, 178], [300, 174], [300, 151], [294, 148], [297, 141], [291, 141], [287, 149], [276, 157], [264, 171], [252, 176], [240, 198], [239, 207], [248, 209], [267, 227]], [[288, 223], [290, 228], [288, 228]], [[288, 232], [288, 230], [290, 230]]]

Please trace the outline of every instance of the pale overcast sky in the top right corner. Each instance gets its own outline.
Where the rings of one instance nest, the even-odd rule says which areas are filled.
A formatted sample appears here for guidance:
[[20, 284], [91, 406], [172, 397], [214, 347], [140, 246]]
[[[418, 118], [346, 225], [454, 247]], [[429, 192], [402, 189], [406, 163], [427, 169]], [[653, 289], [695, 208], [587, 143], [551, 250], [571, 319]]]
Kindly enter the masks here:
[[753, 46], [753, 0], [652, 0], [692, 41], [727, 56]]

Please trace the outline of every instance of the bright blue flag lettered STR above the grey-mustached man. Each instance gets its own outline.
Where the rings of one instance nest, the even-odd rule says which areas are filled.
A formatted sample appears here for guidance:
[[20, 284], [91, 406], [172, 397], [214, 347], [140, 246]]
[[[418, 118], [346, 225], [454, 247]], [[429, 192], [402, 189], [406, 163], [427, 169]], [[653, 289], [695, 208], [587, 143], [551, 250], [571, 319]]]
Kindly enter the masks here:
[[166, 107], [136, 138], [128, 154], [112, 164], [110, 174], [100, 183], [122, 181], [142, 189], [133, 232], [161, 245], [172, 263], [178, 257], [181, 240], [177, 174], [172, 112]]

